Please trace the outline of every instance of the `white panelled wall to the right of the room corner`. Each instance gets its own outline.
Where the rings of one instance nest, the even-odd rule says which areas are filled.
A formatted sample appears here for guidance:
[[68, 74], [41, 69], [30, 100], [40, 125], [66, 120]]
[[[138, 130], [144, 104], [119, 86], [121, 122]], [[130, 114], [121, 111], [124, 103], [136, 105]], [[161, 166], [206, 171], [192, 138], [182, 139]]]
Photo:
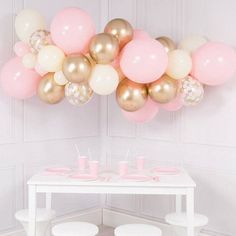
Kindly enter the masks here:
[[[124, 17], [152, 36], [206, 35], [235, 46], [235, 0], [109, 1], [109, 17]], [[235, 78], [236, 79], [236, 78]], [[161, 164], [187, 168], [197, 183], [196, 210], [210, 219], [208, 232], [236, 235], [236, 81], [206, 88], [201, 105], [177, 113], [161, 111], [146, 125], [126, 121], [114, 96], [107, 101], [107, 161], [117, 162], [131, 147]], [[131, 155], [132, 159], [132, 155]], [[108, 196], [106, 206], [163, 220], [172, 198]], [[214, 235], [218, 235], [218, 234]]]

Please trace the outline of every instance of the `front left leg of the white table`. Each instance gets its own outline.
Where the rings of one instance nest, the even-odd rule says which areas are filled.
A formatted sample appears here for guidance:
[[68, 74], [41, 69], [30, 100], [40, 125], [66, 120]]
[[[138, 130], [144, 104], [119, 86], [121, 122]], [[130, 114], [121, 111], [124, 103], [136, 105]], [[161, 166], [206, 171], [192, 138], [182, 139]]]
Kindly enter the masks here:
[[28, 208], [29, 208], [29, 230], [28, 236], [36, 235], [36, 186], [29, 185], [29, 196], [28, 196]]

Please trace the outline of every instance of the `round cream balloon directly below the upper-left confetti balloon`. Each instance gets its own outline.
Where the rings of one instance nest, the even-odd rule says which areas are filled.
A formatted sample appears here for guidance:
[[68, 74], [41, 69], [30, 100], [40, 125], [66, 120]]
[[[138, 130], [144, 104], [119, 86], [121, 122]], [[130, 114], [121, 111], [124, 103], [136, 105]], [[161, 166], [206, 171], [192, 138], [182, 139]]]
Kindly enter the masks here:
[[43, 70], [56, 72], [61, 70], [64, 58], [65, 55], [60, 48], [49, 45], [40, 50], [38, 54], [38, 63]]

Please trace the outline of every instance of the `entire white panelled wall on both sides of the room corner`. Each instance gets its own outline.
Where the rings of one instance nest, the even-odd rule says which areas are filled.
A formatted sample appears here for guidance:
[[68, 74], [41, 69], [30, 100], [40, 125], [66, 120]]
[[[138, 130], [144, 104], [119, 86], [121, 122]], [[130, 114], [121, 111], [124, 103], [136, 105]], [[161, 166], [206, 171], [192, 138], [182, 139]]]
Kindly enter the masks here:
[[[0, 8], [0, 63], [12, 55], [14, 13], [23, 7], [41, 11], [48, 22], [61, 8], [87, 10], [101, 29], [108, 19], [124, 17], [152, 36], [175, 40], [191, 33], [235, 45], [234, 0], [9, 0]], [[207, 230], [236, 235], [236, 81], [206, 90], [204, 102], [177, 113], [160, 112], [147, 125], [121, 116], [114, 96], [76, 108], [66, 102], [47, 106], [37, 98], [18, 102], [0, 94], [0, 231], [16, 227], [13, 214], [26, 206], [26, 181], [40, 167], [75, 160], [73, 143], [115, 164], [133, 147], [136, 154], [165, 164], [184, 165], [197, 182], [196, 208], [210, 218]], [[101, 144], [101, 145], [99, 145]], [[132, 158], [132, 157], [131, 157]], [[82, 201], [83, 200], [83, 201]], [[82, 201], [82, 203], [81, 203]], [[85, 204], [86, 203], [86, 204]], [[66, 214], [96, 206], [99, 199], [58, 196], [55, 208]], [[105, 205], [160, 221], [173, 199], [120, 196]], [[218, 235], [217, 233], [214, 235]]]

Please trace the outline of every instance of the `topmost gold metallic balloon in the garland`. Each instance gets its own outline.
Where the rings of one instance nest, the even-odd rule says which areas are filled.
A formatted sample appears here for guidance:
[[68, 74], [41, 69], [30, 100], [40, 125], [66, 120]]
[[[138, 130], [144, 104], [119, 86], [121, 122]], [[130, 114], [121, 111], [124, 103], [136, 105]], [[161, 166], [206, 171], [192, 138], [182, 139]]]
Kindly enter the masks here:
[[106, 25], [104, 32], [116, 36], [120, 43], [120, 48], [124, 47], [133, 38], [133, 27], [124, 19], [113, 19]]

